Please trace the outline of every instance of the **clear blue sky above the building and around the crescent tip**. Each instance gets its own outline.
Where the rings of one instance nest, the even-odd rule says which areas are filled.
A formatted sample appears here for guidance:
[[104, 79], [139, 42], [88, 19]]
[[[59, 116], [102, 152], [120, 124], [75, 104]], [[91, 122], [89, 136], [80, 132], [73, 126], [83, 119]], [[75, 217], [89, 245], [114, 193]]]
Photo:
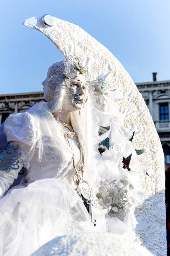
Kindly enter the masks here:
[[0, 0], [0, 94], [41, 91], [56, 46], [22, 22], [50, 14], [106, 46], [134, 82], [170, 80], [170, 0]]

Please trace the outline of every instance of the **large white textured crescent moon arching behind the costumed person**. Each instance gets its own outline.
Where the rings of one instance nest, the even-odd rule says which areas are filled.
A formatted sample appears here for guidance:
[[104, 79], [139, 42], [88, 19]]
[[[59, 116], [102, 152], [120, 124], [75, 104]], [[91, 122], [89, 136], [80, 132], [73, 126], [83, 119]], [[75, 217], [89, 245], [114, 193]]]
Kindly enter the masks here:
[[133, 113], [127, 115], [124, 127], [130, 130], [134, 126], [140, 131], [133, 139], [134, 148], [147, 149], [147, 153], [138, 157], [149, 174], [142, 182], [146, 200], [136, 210], [139, 222], [136, 231], [143, 245], [148, 249], [152, 248], [152, 253], [156, 255], [159, 251], [161, 255], [165, 255], [164, 156], [145, 101], [129, 74], [107, 48], [79, 26], [55, 17], [51, 18], [53, 26], [44, 24], [42, 17], [29, 18], [23, 24], [45, 34], [65, 57], [71, 54], [81, 57], [84, 66], [88, 67], [91, 80], [96, 79], [101, 73], [109, 72], [106, 79], [109, 88], [112, 90], [118, 88], [124, 95], [119, 101], [119, 109], [122, 112], [133, 110]]

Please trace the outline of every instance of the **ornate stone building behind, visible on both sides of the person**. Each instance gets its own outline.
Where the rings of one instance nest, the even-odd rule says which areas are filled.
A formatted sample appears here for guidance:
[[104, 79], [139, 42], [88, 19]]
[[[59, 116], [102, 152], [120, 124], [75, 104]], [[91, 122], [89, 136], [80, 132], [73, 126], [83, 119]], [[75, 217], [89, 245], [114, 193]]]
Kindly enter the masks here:
[[[157, 81], [157, 73], [153, 73], [153, 82], [137, 83], [136, 86], [155, 123], [167, 164], [170, 162], [170, 80]], [[44, 101], [43, 92], [0, 95], [0, 123], [9, 114], [23, 112], [41, 101]]]

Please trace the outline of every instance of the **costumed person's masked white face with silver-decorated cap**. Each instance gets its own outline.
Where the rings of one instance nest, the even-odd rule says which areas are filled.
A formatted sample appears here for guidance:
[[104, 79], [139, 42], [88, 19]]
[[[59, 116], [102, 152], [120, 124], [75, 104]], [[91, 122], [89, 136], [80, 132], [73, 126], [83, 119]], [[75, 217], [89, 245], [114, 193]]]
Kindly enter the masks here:
[[50, 102], [57, 91], [65, 89], [63, 103], [66, 108], [72, 106], [79, 108], [85, 103], [84, 94], [86, 87], [86, 68], [80, 64], [81, 59], [77, 56], [70, 56], [65, 61], [54, 63], [47, 72], [46, 79], [42, 82], [44, 98]]

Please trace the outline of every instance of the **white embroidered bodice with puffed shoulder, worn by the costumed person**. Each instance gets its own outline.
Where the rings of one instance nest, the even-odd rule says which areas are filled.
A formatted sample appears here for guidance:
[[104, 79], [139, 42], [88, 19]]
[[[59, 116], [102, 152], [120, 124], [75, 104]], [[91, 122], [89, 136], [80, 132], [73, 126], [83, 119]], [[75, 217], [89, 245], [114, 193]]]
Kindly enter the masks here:
[[26, 168], [27, 184], [38, 179], [62, 177], [75, 187], [73, 153], [75, 164], [78, 164], [79, 147], [75, 137], [67, 138], [69, 147], [64, 138], [64, 133], [68, 133], [69, 129], [62, 128], [51, 113], [42, 108], [33, 115], [28, 112], [11, 115], [4, 131], [8, 142], [18, 145], [20, 161]]

